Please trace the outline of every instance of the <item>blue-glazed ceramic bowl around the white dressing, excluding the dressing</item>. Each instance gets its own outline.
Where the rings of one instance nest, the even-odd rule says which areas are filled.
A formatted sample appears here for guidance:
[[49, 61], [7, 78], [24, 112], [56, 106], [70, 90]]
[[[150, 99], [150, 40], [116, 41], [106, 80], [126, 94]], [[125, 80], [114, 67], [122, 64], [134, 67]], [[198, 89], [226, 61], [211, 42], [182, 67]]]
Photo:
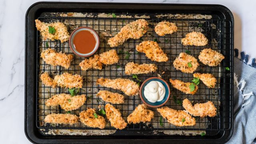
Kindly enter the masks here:
[[[161, 82], [164, 85], [165, 88], [165, 95], [164, 95], [164, 99], [161, 100], [160, 102], [149, 102], [145, 96], [144, 96], [144, 87], [151, 81], [158, 81]], [[162, 78], [158, 78], [158, 77], [152, 77], [152, 78], [148, 78], [146, 79], [142, 85], [140, 86], [140, 98], [142, 100], [142, 102], [144, 102], [144, 104], [146, 104], [149, 107], [152, 108], [157, 108], [160, 107], [162, 105], [164, 105], [170, 98], [170, 86], [168, 85], [168, 83], [163, 80]]]

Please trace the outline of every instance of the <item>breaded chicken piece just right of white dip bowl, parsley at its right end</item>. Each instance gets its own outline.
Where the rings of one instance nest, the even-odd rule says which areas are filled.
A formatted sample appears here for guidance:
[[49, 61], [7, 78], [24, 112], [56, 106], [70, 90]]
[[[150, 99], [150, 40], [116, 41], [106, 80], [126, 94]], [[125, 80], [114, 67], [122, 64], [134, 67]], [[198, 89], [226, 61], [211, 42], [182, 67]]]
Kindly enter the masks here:
[[[172, 84], [172, 86], [174, 88], [176, 88], [177, 90], [180, 90], [186, 94], [195, 94], [196, 91], [198, 90], [198, 86], [192, 82], [182, 82], [181, 80], [172, 80], [170, 78], [170, 83]], [[190, 85], [193, 84], [195, 89], [193, 91], [191, 91], [190, 89]]]

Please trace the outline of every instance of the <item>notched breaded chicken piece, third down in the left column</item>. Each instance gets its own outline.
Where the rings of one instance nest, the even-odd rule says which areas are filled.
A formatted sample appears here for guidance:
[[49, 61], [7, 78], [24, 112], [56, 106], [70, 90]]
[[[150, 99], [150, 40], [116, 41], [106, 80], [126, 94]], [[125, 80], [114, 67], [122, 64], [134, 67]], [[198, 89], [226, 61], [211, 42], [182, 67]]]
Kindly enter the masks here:
[[46, 86], [51, 86], [55, 88], [56, 86], [60, 86], [62, 88], [82, 88], [83, 86], [83, 77], [78, 74], [70, 74], [68, 72], [64, 72], [63, 74], [56, 75], [54, 79], [50, 78], [49, 74], [43, 73], [41, 74], [42, 83]]

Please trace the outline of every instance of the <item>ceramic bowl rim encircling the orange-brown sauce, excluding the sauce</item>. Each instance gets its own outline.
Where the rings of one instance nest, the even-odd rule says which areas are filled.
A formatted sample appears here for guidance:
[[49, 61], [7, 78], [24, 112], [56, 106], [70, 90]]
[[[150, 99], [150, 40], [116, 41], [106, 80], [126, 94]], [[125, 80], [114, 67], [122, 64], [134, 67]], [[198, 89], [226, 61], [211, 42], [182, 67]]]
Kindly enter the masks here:
[[[76, 48], [74, 48], [74, 43], [73, 43], [73, 40], [74, 40], [74, 37], [75, 35], [82, 31], [82, 30], [87, 30], [89, 32], [91, 32], [93, 34], [93, 36], [95, 37], [96, 39], [96, 44], [95, 44], [95, 47], [94, 49], [92, 50], [92, 52], [90, 53], [87, 53], [87, 54], [82, 54], [80, 52], [78, 52], [76, 50]], [[97, 34], [97, 32], [95, 32], [92, 28], [89, 28], [89, 27], [86, 27], [86, 26], [82, 26], [82, 27], [79, 27], [79, 28], [76, 28], [71, 34], [70, 34], [70, 39], [69, 39], [69, 47], [71, 48], [72, 52], [74, 52], [74, 54], [78, 55], [78, 56], [81, 56], [81, 57], [88, 57], [88, 56], [92, 56], [99, 48], [99, 45], [100, 45], [100, 38], [99, 38], [99, 35]]]

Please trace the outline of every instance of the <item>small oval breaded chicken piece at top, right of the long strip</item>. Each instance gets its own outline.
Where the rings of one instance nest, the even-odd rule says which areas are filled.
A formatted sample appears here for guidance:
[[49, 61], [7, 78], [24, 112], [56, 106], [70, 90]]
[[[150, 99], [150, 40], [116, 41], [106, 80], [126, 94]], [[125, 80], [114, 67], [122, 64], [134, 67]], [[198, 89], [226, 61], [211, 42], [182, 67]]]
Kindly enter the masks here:
[[177, 26], [176, 24], [172, 23], [172, 22], [159, 22], [156, 26], [155, 26], [155, 32], [156, 34], [158, 34], [159, 36], [164, 36], [166, 34], [172, 34], [173, 32], [177, 32]]

